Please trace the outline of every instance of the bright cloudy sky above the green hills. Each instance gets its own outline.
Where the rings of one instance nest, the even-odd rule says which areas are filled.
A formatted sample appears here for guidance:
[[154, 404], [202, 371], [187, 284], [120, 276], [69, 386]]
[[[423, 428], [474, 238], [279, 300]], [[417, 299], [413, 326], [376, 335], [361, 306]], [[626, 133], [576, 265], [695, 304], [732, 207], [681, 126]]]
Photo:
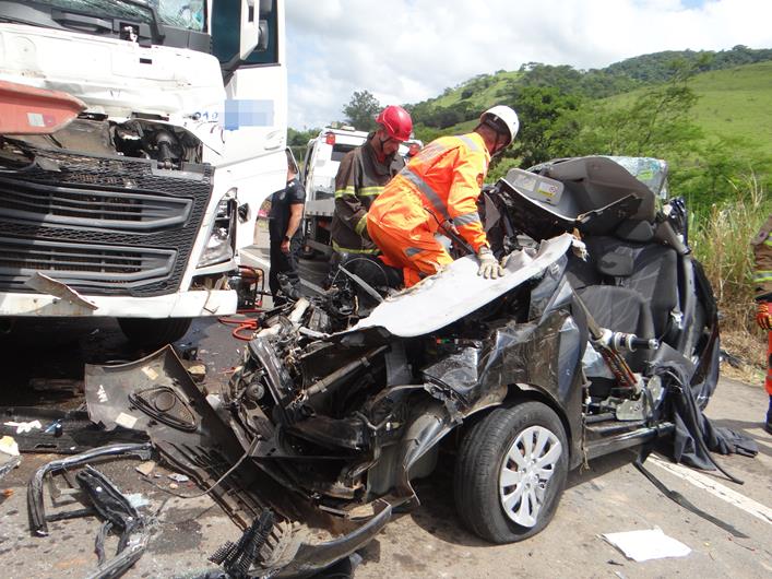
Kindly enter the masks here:
[[772, 0], [286, 0], [289, 126], [354, 91], [417, 103], [524, 62], [603, 68], [661, 50], [772, 48]]

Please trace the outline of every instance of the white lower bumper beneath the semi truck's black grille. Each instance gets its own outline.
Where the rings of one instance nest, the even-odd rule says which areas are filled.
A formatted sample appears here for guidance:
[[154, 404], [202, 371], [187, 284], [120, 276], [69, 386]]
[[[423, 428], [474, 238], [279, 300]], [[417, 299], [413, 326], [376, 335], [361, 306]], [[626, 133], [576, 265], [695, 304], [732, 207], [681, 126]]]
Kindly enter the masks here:
[[[236, 292], [191, 291], [153, 297], [83, 295], [92, 304], [51, 295], [8, 293], [0, 295], [0, 317], [110, 317], [197, 318], [236, 312]], [[93, 307], [95, 306], [95, 307]]]

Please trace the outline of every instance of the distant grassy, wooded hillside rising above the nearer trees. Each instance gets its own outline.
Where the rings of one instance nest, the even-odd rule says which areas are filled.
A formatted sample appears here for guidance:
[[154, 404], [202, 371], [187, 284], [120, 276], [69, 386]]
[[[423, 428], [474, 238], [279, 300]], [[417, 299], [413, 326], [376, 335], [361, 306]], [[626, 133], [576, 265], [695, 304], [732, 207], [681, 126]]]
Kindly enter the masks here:
[[614, 107], [631, 103], [648, 87], [676, 74], [679, 67], [690, 67], [693, 76], [689, 86], [698, 97], [692, 115], [704, 134], [740, 138], [772, 154], [770, 58], [771, 49], [738, 46], [720, 52], [644, 55], [589, 71], [530, 63], [520, 71], [479, 74], [446, 88], [436, 98], [406, 106], [416, 122], [416, 135], [430, 140], [468, 130], [476, 116], [494, 104], [510, 104], [518, 109], [519, 92], [525, 87], [554, 87], [590, 101], [603, 99]]

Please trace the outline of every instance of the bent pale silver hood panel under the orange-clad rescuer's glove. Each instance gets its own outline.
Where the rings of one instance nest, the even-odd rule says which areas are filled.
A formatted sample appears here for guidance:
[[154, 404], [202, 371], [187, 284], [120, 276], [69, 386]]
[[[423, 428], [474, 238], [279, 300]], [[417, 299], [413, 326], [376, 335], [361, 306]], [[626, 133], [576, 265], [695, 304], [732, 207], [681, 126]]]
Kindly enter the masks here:
[[412, 338], [437, 331], [543, 272], [568, 251], [572, 239], [570, 234], [548, 239], [535, 257], [512, 252], [507, 274], [497, 280], [477, 275], [476, 258], [456, 259], [440, 273], [385, 299], [349, 332], [381, 327], [392, 335]]

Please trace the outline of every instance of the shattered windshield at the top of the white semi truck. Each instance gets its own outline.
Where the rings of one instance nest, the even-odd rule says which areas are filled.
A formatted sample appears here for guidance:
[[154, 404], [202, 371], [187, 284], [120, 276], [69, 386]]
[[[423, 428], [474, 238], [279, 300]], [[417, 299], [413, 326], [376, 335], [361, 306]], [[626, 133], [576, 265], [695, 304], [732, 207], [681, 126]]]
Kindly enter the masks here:
[[155, 8], [163, 24], [194, 32], [205, 31], [204, 0], [35, 0], [59, 10], [86, 13], [97, 17], [131, 19], [151, 24]]

